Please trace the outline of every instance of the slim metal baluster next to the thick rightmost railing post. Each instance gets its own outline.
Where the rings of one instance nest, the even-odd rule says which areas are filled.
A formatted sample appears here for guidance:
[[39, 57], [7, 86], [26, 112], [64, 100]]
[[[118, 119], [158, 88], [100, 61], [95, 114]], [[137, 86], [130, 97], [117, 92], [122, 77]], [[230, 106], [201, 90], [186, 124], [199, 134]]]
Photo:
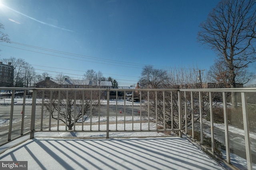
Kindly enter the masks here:
[[222, 97], [223, 97], [223, 110], [224, 110], [226, 161], [228, 162], [228, 164], [230, 164], [230, 147], [229, 147], [229, 135], [228, 135], [228, 114], [227, 114], [226, 92], [222, 92]]

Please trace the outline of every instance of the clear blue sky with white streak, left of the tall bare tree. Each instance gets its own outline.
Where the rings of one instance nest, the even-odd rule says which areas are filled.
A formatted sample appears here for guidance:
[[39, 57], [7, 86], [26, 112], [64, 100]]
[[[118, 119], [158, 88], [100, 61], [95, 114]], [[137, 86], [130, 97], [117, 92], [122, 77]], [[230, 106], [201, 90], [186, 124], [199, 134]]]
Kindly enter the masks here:
[[218, 2], [0, 0], [0, 23], [14, 42], [0, 43], [0, 60], [22, 58], [52, 77], [62, 72], [82, 78], [88, 69], [100, 70], [119, 86], [136, 84], [145, 65], [209, 70], [216, 54], [196, 37]]

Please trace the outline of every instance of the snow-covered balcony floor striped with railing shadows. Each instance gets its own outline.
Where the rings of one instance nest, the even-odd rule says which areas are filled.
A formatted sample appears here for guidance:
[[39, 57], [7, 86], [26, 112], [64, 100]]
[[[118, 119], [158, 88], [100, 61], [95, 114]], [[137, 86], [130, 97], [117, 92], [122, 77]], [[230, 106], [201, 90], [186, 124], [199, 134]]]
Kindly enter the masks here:
[[179, 137], [130, 139], [35, 138], [0, 154], [1, 161], [28, 161], [29, 170], [223, 169]]

